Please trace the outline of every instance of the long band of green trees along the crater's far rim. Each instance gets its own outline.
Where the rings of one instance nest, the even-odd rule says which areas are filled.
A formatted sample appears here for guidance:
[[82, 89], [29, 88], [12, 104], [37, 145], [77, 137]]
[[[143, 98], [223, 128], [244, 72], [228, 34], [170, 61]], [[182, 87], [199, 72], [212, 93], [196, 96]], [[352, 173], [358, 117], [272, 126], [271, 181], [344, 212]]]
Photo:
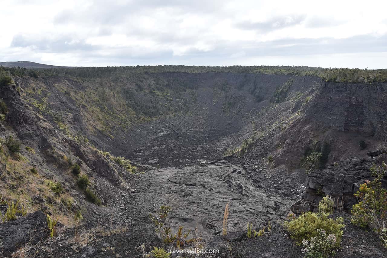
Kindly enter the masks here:
[[[232, 72], [232, 73], [259, 73], [282, 74], [293, 76], [318, 76], [327, 82], [345, 83], [382, 83], [387, 82], [387, 69], [349, 69], [349, 68], [321, 68], [308, 66], [185, 66], [185, 65], [151, 65], [151, 66], [121, 66], [121, 67], [74, 67], [50, 69], [26, 69], [16, 67], [0, 67], [0, 74], [12, 76], [68, 76], [73, 78], [112, 78], [125, 77], [128, 74], [137, 76], [141, 73], [159, 72]], [[34, 74], [33, 74], [34, 73]], [[9, 77], [9, 76], [7, 76]], [[7, 82], [10, 83], [9, 78]], [[11, 78], [12, 81], [12, 78]], [[179, 81], [171, 81], [169, 87], [182, 85]]]

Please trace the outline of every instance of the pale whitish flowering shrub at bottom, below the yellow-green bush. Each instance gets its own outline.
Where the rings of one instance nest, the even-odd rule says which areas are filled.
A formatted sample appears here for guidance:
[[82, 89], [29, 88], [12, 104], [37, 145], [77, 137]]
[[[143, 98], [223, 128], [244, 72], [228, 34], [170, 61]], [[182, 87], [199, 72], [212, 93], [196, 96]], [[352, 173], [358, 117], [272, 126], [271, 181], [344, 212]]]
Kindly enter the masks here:
[[310, 241], [303, 239], [302, 245], [304, 249], [302, 252], [308, 258], [326, 258], [336, 254], [336, 236], [329, 234], [323, 229], [317, 229], [318, 236], [312, 237]]

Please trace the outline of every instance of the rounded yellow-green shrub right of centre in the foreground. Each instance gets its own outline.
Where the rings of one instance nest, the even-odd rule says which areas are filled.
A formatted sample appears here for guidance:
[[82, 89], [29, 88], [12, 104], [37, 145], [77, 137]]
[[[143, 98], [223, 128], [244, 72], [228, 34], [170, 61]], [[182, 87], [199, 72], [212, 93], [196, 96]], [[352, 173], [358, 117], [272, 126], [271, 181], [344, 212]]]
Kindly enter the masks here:
[[328, 218], [328, 215], [328, 213], [324, 212], [305, 212], [297, 218], [286, 221], [284, 227], [289, 232], [290, 237], [296, 241], [297, 245], [301, 245], [303, 239], [310, 241], [312, 237], [319, 235], [317, 229], [323, 229], [327, 234], [334, 234], [336, 236], [336, 246], [338, 247], [343, 234], [341, 229], [345, 226], [342, 224], [344, 218], [333, 219]]

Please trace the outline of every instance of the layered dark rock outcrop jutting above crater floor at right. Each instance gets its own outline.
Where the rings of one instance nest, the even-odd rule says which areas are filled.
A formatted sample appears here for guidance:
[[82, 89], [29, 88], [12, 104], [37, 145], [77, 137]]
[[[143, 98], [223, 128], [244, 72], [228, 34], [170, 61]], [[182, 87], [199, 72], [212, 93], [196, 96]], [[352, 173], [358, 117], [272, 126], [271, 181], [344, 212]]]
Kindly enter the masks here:
[[[357, 203], [353, 194], [359, 190], [360, 184], [372, 180], [370, 167], [374, 163], [380, 164], [382, 158], [385, 158], [380, 157], [374, 160], [351, 158], [329, 165], [326, 169], [312, 171], [307, 177], [305, 193], [290, 209], [296, 214], [316, 212], [321, 199], [329, 195], [334, 199], [336, 208], [348, 211]], [[386, 179], [383, 184], [387, 182]]]

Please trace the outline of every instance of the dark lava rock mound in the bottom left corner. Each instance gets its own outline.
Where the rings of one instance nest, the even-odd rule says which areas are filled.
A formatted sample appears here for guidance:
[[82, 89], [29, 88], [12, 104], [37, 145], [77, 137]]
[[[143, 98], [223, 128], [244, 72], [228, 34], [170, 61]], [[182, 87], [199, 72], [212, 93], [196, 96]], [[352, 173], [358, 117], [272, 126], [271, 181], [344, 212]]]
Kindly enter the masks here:
[[38, 244], [48, 235], [46, 215], [41, 211], [3, 223], [0, 226], [0, 238], [3, 240], [2, 255], [9, 256], [27, 243]]

